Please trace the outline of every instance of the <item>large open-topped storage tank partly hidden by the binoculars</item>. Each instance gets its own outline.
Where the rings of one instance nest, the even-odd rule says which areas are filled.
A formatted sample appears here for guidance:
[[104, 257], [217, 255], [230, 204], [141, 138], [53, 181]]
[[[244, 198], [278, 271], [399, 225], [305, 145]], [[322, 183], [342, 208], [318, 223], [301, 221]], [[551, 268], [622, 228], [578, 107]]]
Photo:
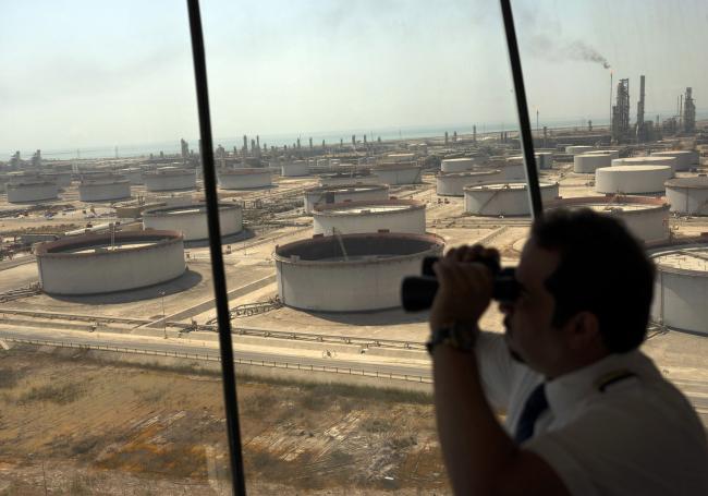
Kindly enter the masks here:
[[316, 237], [276, 247], [278, 294], [288, 306], [316, 312], [367, 312], [401, 306], [401, 281], [440, 256], [431, 234]]

